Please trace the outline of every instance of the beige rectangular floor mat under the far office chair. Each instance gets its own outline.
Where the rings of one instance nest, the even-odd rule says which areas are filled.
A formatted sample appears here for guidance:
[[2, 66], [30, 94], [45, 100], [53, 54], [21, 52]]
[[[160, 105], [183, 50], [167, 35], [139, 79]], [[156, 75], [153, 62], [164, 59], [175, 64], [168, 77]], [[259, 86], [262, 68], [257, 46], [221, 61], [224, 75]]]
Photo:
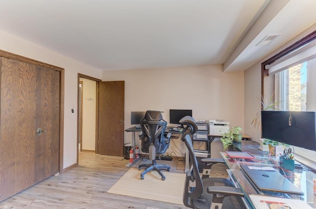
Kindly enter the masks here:
[[[142, 171], [129, 169], [109, 189], [108, 193], [183, 205], [182, 195], [185, 174], [163, 172], [166, 176], [163, 181], [156, 171], [151, 171], [145, 174], [145, 178], [141, 180], [140, 174]], [[135, 188], [137, 189], [135, 190]]]

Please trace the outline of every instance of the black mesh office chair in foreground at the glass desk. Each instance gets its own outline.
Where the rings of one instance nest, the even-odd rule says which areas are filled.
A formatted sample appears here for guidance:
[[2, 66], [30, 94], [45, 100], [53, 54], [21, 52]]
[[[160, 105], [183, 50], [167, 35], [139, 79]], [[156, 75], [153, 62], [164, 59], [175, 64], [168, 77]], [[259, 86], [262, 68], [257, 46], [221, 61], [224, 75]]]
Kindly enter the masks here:
[[[180, 123], [185, 126], [181, 140], [185, 142], [192, 162], [192, 169], [186, 175], [183, 204], [192, 209], [246, 208], [242, 199], [244, 193], [236, 188], [232, 181], [227, 178], [200, 176], [191, 138], [197, 132], [197, 124], [191, 116], [182, 118]], [[223, 162], [221, 160], [212, 162], [211, 158], [208, 161], [210, 161], [208, 165]]]

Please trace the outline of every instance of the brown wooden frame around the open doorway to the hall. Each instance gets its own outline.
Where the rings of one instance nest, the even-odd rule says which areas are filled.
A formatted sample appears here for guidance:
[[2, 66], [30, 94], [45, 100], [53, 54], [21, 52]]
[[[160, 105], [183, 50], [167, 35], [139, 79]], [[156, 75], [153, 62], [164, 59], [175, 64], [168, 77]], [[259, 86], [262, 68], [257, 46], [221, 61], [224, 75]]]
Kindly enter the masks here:
[[[99, 94], [98, 94], [98, 90], [99, 90], [99, 82], [102, 81], [101, 79], [98, 79], [98, 78], [94, 78], [94, 77], [91, 77], [89, 75], [84, 75], [84, 74], [81, 74], [81, 73], [78, 73], [78, 95], [77, 95], [77, 165], [79, 165], [79, 103], [81, 101], [79, 101], [79, 82], [80, 82], [80, 78], [85, 78], [85, 79], [89, 79], [89, 80], [93, 80], [96, 82], [96, 107], [95, 107], [95, 114], [96, 114], [96, 121], [95, 121], [95, 133], [98, 133], [99, 132]], [[81, 112], [82, 114], [82, 112]], [[97, 141], [98, 141], [98, 135], [96, 134], [95, 135], [95, 153], [98, 153], [98, 146], [97, 146]], [[81, 145], [82, 146], [82, 145]]]

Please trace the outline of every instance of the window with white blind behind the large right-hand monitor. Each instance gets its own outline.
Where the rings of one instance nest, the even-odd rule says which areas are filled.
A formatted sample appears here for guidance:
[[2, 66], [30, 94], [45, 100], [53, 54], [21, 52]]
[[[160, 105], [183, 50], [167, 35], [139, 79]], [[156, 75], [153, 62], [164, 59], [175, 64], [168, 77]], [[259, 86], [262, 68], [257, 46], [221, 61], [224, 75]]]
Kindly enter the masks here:
[[[262, 63], [262, 95], [278, 101], [277, 108], [316, 111], [316, 31]], [[316, 169], [316, 151], [295, 147]]]

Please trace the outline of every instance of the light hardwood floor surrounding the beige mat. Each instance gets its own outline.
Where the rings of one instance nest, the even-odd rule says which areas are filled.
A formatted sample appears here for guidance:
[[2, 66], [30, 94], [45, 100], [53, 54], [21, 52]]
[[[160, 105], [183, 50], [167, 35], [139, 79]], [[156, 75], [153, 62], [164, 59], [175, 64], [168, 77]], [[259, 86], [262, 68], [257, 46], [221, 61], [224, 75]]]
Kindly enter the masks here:
[[[122, 157], [81, 152], [79, 166], [0, 202], [0, 209], [186, 209], [181, 205], [107, 193], [128, 171], [127, 162]], [[176, 164], [172, 171], [183, 173], [184, 161]]]

